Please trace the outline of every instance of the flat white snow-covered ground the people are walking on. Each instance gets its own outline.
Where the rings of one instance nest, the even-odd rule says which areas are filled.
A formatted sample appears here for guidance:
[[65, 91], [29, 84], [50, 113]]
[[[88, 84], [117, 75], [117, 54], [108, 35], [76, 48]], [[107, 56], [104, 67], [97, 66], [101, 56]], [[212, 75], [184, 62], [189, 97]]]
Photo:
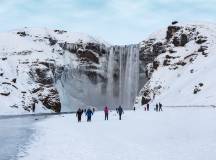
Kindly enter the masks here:
[[77, 123], [75, 115], [52, 116], [34, 124], [32, 142], [20, 160], [215, 160], [216, 110], [167, 108], [162, 113], [115, 112], [104, 121]]

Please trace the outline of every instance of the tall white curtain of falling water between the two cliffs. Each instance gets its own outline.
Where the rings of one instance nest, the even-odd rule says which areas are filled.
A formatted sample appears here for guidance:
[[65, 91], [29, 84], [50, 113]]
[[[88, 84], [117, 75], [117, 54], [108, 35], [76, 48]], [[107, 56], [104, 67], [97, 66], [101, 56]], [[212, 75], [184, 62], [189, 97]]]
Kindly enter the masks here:
[[[139, 89], [139, 45], [113, 46], [108, 58], [108, 92], [119, 105], [132, 107]], [[115, 63], [116, 61], [116, 63]], [[118, 88], [118, 96], [113, 89]], [[118, 105], [116, 101], [112, 101]]]

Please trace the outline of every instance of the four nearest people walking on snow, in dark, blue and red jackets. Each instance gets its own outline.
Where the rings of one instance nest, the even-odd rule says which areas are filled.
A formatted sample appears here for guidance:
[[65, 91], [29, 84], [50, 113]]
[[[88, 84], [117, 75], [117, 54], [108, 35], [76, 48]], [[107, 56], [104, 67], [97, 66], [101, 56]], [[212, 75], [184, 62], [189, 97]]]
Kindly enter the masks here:
[[[85, 113], [85, 115], [87, 117], [87, 122], [91, 122], [91, 118], [94, 114], [94, 111], [95, 111], [94, 108], [93, 109], [88, 108], [87, 110], [83, 110], [83, 109], [79, 108], [76, 112], [78, 122], [81, 122], [83, 113]], [[116, 108], [116, 111], [119, 115], [119, 120], [121, 120], [122, 114], [124, 113], [123, 108], [121, 106], [119, 106], [118, 108]], [[105, 106], [104, 107], [105, 120], [109, 119], [109, 113], [110, 113], [110, 109], [108, 108], [108, 106]]]

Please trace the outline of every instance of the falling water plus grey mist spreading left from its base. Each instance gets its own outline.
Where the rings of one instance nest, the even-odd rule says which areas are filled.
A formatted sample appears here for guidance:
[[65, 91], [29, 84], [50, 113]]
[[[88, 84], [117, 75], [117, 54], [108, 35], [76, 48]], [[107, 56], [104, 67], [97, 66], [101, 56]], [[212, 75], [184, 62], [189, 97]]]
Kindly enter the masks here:
[[[68, 60], [68, 59], [67, 59]], [[139, 73], [139, 45], [110, 47], [109, 54], [100, 62], [105, 79], [92, 83], [85, 74], [85, 67], [77, 67], [70, 63], [61, 81], [57, 83], [62, 111], [77, 108], [96, 107], [98, 110], [105, 105], [114, 109], [121, 105], [124, 109], [133, 107], [142, 77]]]

